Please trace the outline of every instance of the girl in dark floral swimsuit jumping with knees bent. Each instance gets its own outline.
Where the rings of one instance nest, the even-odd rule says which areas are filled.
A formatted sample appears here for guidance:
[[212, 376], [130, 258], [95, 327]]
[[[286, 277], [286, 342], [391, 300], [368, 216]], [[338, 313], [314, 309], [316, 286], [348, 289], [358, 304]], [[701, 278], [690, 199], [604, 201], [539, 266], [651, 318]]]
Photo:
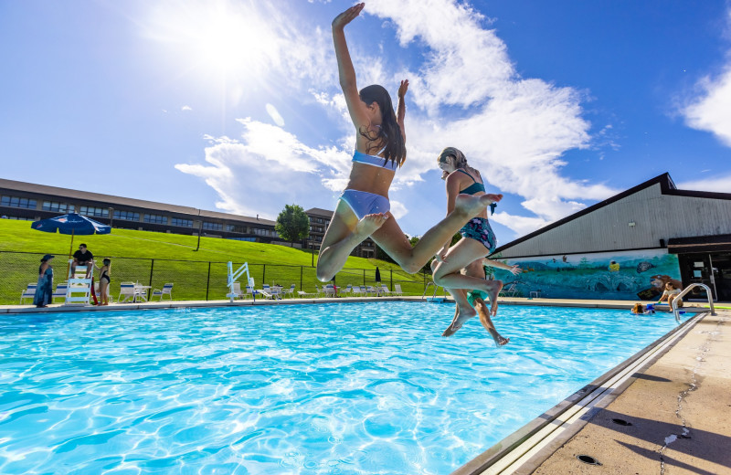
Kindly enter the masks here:
[[[442, 178], [447, 182], [447, 212], [454, 206], [458, 195], [482, 196], [485, 186], [482, 184], [480, 172], [467, 164], [464, 153], [454, 147], [445, 148], [438, 158], [439, 166], [444, 173]], [[493, 202], [498, 202], [503, 195], [487, 195]], [[477, 259], [493, 253], [497, 247], [497, 239], [490, 222], [487, 220], [487, 207], [483, 207], [479, 215], [470, 219], [460, 229], [462, 238], [450, 248], [447, 242], [437, 252], [432, 262], [434, 282], [447, 289], [457, 302], [457, 313], [450, 327], [443, 333], [450, 336], [459, 330], [476, 312], [467, 300], [466, 290], [482, 290], [490, 297], [491, 314], [497, 311], [497, 294], [503, 288], [500, 280], [484, 280], [461, 274], [461, 269], [468, 267]]]

